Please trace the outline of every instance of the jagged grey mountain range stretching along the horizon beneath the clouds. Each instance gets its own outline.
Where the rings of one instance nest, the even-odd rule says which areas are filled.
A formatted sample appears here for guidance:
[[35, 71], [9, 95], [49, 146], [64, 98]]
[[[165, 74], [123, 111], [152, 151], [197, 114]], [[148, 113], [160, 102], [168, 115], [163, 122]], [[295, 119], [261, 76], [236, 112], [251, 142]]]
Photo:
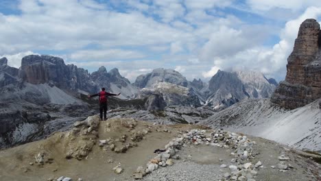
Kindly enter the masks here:
[[[101, 87], [105, 87], [110, 92], [121, 92], [121, 99], [135, 99], [146, 95], [145, 89], [154, 93], [156, 89], [153, 87], [158, 87], [158, 93], [167, 97], [166, 102], [169, 106], [207, 105], [220, 110], [241, 99], [270, 97], [276, 87], [275, 80], [270, 80], [270, 83], [263, 74], [257, 72], [218, 71], [207, 84], [202, 80], [189, 82], [178, 71], [171, 69], [154, 69], [151, 73], [139, 75], [131, 84], [126, 77], [121, 76], [118, 69], [107, 71], [105, 67], [100, 67], [97, 71], [88, 73], [73, 64], [64, 64], [62, 58], [53, 56], [25, 56], [21, 60], [20, 69], [9, 67], [6, 58], [2, 58], [0, 63], [1, 86], [19, 81], [30, 84], [47, 83], [62, 90], [80, 93], [96, 93]], [[160, 82], [167, 82], [171, 87], [176, 86], [176, 90], [187, 88], [188, 97], [193, 99], [186, 101], [181, 97], [182, 91], [162, 92], [169, 84], [159, 84]], [[161, 86], [165, 87], [160, 88]]]

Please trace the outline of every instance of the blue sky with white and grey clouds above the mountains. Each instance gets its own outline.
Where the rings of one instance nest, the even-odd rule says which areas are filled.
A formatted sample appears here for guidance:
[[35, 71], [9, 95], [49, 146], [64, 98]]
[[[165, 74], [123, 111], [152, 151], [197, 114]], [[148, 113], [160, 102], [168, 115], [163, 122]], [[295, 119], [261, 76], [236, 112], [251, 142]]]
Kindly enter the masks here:
[[320, 17], [315, 0], [0, 0], [0, 57], [20, 67], [49, 54], [90, 72], [117, 67], [131, 82], [159, 67], [280, 81], [300, 23]]

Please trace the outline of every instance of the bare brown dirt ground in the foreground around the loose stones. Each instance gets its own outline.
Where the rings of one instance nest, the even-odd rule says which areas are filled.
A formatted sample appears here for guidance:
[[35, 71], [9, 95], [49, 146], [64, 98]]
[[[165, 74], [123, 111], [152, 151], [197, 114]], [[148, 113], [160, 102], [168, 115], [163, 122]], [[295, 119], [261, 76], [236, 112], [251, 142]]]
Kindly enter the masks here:
[[[162, 149], [178, 132], [200, 128], [198, 125], [152, 125], [151, 123], [137, 121], [134, 130], [150, 130], [142, 141], [137, 142], [137, 147], [128, 149], [126, 153], [115, 153], [110, 149], [104, 150], [96, 144], [93, 150], [83, 160], [65, 158], [65, 146], [59, 140], [67, 132], [56, 133], [53, 136], [33, 143], [27, 143], [19, 147], [13, 147], [0, 151], [0, 180], [14, 181], [35, 181], [59, 178], [60, 176], [70, 177], [73, 180], [105, 181], [105, 180], [133, 180], [132, 173], [139, 166], [154, 158], [155, 149]], [[99, 125], [99, 140], [112, 138], [117, 140], [126, 134], [130, 140], [132, 130], [126, 128], [119, 120], [101, 121]], [[255, 180], [319, 180], [321, 178], [321, 167], [316, 162], [302, 158], [291, 152], [287, 147], [263, 138], [250, 137], [257, 142], [254, 146], [255, 152], [259, 153], [252, 162], [261, 161], [263, 169], [259, 169]], [[116, 146], [123, 143], [115, 143]], [[47, 149], [53, 158], [52, 163], [43, 166], [29, 165], [34, 162], [39, 150]], [[210, 145], [189, 145], [182, 149], [179, 154], [181, 159], [178, 162], [189, 161], [201, 165], [231, 165], [233, 156], [231, 149], [213, 147]], [[278, 156], [284, 152], [291, 160], [289, 163], [294, 169], [285, 173], [278, 171]], [[221, 159], [221, 160], [219, 160]], [[188, 160], [188, 161], [187, 161]], [[121, 165], [123, 173], [117, 175], [112, 168]], [[276, 169], [272, 169], [275, 166]], [[165, 168], [160, 168], [165, 169]], [[228, 168], [221, 168], [222, 175]], [[319, 175], [319, 178], [317, 177]]]

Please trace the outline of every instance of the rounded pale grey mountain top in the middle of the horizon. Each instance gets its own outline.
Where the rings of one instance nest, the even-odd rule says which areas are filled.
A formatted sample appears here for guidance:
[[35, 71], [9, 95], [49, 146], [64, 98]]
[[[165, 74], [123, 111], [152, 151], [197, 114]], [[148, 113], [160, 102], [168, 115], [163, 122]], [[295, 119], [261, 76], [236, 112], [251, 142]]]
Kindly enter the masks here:
[[151, 87], [158, 82], [168, 82], [179, 86], [187, 86], [187, 80], [178, 71], [171, 69], [154, 69], [152, 73], [139, 75], [134, 85], [139, 88]]

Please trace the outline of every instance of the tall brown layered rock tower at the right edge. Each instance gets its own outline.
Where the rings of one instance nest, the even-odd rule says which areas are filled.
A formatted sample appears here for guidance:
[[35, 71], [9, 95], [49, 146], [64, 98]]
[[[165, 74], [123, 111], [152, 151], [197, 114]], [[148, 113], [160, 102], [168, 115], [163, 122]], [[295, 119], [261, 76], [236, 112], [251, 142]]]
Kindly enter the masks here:
[[284, 108], [305, 106], [321, 97], [321, 32], [314, 19], [301, 25], [294, 49], [287, 59], [287, 76], [271, 101]]

